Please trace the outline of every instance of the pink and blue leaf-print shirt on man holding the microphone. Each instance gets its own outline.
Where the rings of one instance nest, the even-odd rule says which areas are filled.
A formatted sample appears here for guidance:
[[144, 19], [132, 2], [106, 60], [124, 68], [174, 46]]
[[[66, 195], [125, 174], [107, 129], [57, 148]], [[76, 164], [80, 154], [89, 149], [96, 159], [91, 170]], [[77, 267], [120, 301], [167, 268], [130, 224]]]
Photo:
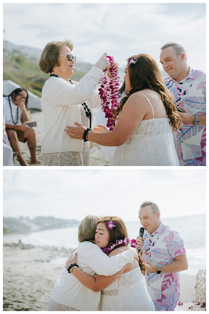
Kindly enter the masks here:
[[[150, 234], [144, 232], [142, 257], [155, 266], [163, 266], [174, 261], [174, 257], [185, 254], [183, 240], [177, 231], [162, 222], [158, 229]], [[147, 287], [152, 300], [169, 297], [173, 293], [180, 294], [179, 272], [177, 273], [146, 273]]]

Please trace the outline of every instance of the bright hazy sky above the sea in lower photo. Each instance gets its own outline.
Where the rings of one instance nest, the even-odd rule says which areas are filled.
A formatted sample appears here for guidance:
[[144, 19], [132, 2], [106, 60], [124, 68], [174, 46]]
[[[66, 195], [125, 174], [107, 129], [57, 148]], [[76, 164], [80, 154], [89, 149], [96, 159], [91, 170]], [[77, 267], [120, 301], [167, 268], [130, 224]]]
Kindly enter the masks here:
[[138, 221], [146, 200], [158, 204], [162, 218], [205, 214], [205, 170], [185, 168], [3, 170], [3, 214], [78, 221], [87, 214], [117, 215], [128, 222]]

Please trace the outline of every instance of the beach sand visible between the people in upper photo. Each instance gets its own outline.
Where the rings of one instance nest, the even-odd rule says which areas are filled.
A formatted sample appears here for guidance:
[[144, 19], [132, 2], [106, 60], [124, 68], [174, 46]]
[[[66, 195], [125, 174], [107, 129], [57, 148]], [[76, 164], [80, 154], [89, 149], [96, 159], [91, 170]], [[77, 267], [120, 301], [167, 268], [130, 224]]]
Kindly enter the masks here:
[[[94, 117], [94, 126], [96, 126], [96, 116], [99, 111], [99, 108], [93, 109], [93, 117]], [[34, 111], [30, 110], [29, 112], [29, 120], [30, 122], [36, 121], [37, 127], [34, 127], [36, 133], [37, 140], [37, 159], [42, 162], [41, 155], [41, 138], [44, 134], [44, 119], [42, 111]], [[63, 130], [61, 130], [62, 132]], [[64, 131], [63, 131], [64, 132]], [[30, 152], [27, 143], [21, 143], [20, 150], [22, 152], [23, 158], [27, 161], [29, 166], [43, 166], [43, 164], [32, 165], [30, 163]], [[106, 155], [102, 154], [102, 146], [94, 143], [94, 147], [90, 151], [90, 160], [91, 166], [110, 166], [109, 160]]]

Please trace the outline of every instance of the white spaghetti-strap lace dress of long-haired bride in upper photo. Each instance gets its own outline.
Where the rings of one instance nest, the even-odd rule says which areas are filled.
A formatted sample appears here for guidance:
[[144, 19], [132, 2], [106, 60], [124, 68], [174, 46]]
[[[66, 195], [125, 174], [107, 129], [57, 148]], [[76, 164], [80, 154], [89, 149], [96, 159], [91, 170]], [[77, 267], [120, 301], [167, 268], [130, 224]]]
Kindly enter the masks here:
[[155, 119], [144, 97], [153, 118], [142, 120], [128, 141], [116, 148], [114, 166], [179, 166], [170, 119]]

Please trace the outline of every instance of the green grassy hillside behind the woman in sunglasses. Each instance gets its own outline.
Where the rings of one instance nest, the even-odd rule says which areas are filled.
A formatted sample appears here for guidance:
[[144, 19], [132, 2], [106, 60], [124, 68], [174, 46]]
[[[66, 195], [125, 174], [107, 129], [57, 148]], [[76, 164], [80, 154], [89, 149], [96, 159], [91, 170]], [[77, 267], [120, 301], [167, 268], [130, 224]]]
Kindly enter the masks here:
[[[74, 70], [72, 79], [79, 81], [88, 71]], [[11, 80], [41, 97], [41, 91], [49, 74], [39, 69], [38, 58], [27, 58], [21, 51], [13, 50], [3, 55], [3, 80]]]

